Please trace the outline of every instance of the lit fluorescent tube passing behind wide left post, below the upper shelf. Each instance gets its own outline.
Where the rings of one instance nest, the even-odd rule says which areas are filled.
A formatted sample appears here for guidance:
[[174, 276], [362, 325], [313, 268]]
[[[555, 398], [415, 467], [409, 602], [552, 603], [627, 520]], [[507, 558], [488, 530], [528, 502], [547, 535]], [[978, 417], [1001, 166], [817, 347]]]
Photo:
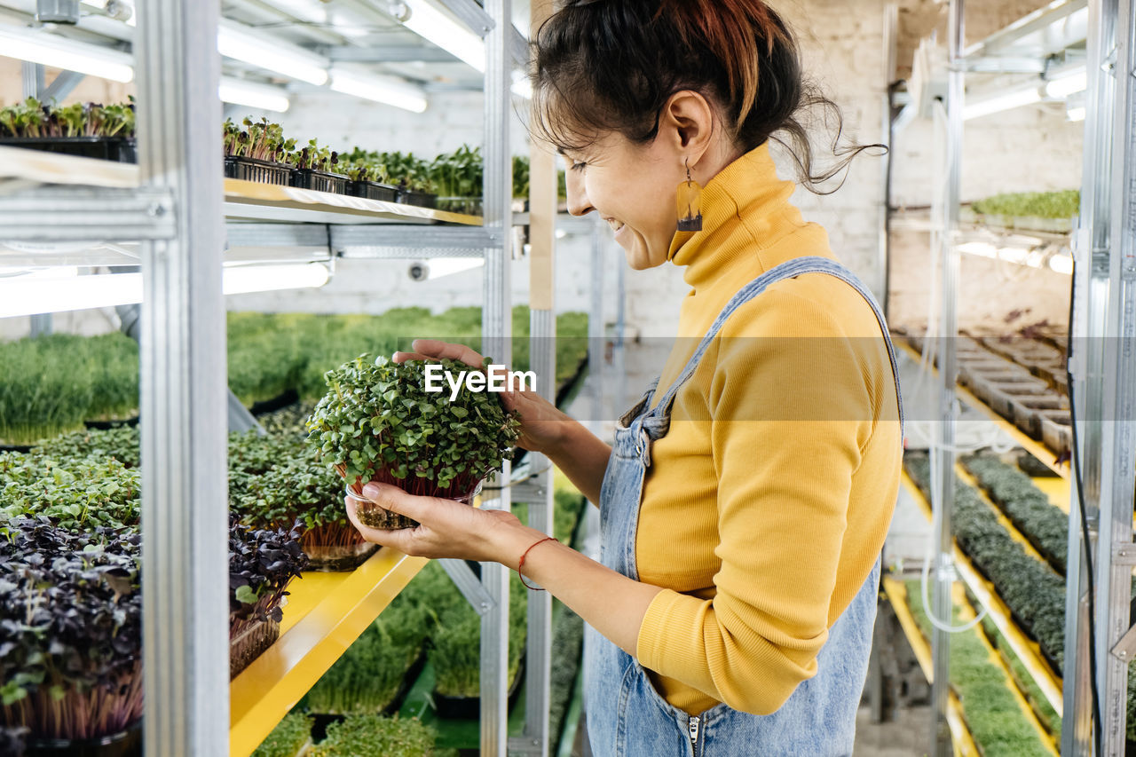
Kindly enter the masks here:
[[[224, 269], [225, 294], [323, 286], [321, 263], [239, 266]], [[78, 276], [75, 268], [0, 277], [0, 318], [41, 313], [109, 308], [142, 301], [142, 274]]]

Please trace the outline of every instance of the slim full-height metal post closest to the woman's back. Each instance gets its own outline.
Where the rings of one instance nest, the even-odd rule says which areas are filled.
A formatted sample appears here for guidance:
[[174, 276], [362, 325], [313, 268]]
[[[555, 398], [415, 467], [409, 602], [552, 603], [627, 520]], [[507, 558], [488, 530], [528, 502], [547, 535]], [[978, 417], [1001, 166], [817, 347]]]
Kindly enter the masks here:
[[[937, 493], [932, 529], [937, 551], [935, 584], [932, 606], [935, 615], [951, 622], [951, 588], [954, 583], [953, 533], [951, 521], [954, 510], [954, 432], [955, 392], [958, 374], [955, 360], [955, 338], [958, 336], [957, 294], [959, 284], [959, 251], [954, 247], [955, 230], [959, 224], [959, 192], [962, 182], [962, 108], [964, 105], [966, 73], [962, 67], [964, 39], [963, 0], [951, 0], [947, 45], [950, 73], [946, 100], [946, 190], [942, 208], [941, 260], [943, 265], [942, 316], [939, 323], [938, 372], [941, 378], [938, 399], [938, 440], [935, 458], [936, 476], [932, 485]], [[930, 754], [947, 757], [953, 754], [951, 731], [946, 721], [950, 704], [950, 634], [936, 627], [932, 633], [932, 656], [934, 658], [934, 681], [932, 682], [932, 708], [935, 725], [932, 732]]]

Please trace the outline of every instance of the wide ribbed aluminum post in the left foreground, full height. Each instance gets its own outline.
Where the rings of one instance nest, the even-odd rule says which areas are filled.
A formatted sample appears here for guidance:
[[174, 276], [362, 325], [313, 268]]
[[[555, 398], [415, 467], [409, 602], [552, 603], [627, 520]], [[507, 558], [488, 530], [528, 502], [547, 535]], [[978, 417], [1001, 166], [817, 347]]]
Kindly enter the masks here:
[[142, 185], [176, 235], [142, 243], [144, 750], [228, 754], [219, 3], [139, 7]]

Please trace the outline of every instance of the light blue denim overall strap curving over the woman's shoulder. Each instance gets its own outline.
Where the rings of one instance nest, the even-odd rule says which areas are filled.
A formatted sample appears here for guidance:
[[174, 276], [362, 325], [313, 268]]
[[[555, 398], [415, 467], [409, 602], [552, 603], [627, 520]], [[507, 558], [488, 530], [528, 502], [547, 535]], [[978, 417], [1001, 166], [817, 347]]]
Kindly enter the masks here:
[[792, 260], [786, 260], [780, 265], [774, 266], [740, 289], [737, 293], [730, 298], [729, 302], [726, 303], [726, 306], [721, 309], [721, 313], [718, 314], [718, 317], [715, 318], [713, 323], [710, 325], [710, 328], [702, 338], [702, 341], [699, 342], [694, 353], [691, 355], [691, 358], [683, 367], [682, 373], [678, 374], [678, 377], [667, 389], [667, 393], [663, 394], [658, 405], [655, 405], [644, 418], [643, 426], [648, 430], [648, 433], [651, 434], [652, 438], [659, 438], [666, 434], [667, 429], [670, 426], [670, 409], [675, 402], [675, 396], [678, 393], [678, 390], [682, 389], [683, 384], [685, 384], [691, 376], [694, 375], [694, 371], [699, 367], [699, 363], [702, 361], [702, 356], [705, 355], [705, 351], [710, 348], [710, 344], [718, 335], [718, 332], [721, 331], [726, 321], [734, 315], [734, 311], [761, 292], [766, 291], [770, 284], [808, 273], [824, 273], [844, 281], [860, 292], [860, 296], [863, 297], [864, 300], [868, 301], [868, 305], [871, 306], [872, 313], [876, 314], [876, 321], [879, 323], [879, 330], [884, 335], [884, 341], [887, 343], [887, 353], [892, 361], [892, 376], [895, 378], [895, 394], [899, 401], [900, 427], [902, 433], [903, 397], [900, 392], [900, 374], [895, 361], [895, 350], [892, 348], [892, 340], [887, 334], [887, 323], [884, 319], [883, 310], [876, 302], [876, 298], [872, 297], [871, 291], [851, 271], [829, 258], [807, 256], [793, 258]]

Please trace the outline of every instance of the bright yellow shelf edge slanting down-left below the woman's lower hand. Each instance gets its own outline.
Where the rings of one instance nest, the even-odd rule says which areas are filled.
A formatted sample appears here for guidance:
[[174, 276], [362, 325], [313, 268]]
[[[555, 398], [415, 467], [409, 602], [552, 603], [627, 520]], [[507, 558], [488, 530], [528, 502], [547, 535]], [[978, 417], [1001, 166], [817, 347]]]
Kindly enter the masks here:
[[427, 561], [381, 549], [233, 679], [232, 757], [251, 755]]

